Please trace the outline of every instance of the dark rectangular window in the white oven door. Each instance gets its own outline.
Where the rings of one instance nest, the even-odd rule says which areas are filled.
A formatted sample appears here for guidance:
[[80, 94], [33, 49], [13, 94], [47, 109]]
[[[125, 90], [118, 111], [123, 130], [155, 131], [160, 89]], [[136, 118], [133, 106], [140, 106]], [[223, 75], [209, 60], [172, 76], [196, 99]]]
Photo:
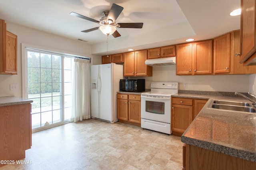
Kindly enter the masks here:
[[146, 111], [164, 115], [164, 102], [146, 101]]

